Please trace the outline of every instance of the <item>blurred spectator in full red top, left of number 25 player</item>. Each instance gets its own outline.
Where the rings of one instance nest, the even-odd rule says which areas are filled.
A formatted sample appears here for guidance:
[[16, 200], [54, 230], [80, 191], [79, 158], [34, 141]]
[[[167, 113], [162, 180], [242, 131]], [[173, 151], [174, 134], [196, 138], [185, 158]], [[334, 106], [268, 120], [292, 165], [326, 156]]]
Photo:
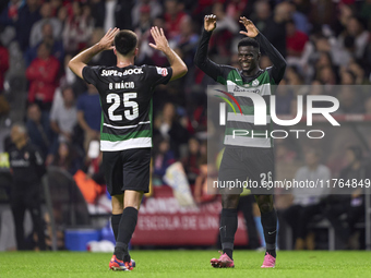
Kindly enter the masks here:
[[41, 110], [49, 110], [57, 87], [58, 60], [50, 55], [51, 46], [43, 43], [37, 49], [37, 58], [26, 70], [29, 81], [28, 101], [39, 102]]

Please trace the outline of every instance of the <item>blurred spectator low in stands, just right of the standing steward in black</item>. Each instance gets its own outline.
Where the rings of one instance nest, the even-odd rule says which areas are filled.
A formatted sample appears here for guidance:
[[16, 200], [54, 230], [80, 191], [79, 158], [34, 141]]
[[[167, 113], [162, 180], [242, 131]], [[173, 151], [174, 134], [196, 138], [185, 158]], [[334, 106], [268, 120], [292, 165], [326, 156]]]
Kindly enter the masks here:
[[68, 171], [71, 176], [74, 176], [80, 169], [81, 164], [73, 146], [67, 142], [61, 142], [58, 145], [58, 150], [51, 166], [57, 166]]

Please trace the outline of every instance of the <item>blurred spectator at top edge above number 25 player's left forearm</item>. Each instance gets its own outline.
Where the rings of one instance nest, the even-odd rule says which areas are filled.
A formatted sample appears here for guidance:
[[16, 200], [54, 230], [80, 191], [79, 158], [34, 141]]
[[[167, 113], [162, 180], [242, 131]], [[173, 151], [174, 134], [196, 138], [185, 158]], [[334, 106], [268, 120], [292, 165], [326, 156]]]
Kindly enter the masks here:
[[63, 29], [63, 44], [67, 52], [84, 49], [92, 36], [94, 21], [91, 8], [81, 2], [72, 2], [72, 15], [65, 22]]

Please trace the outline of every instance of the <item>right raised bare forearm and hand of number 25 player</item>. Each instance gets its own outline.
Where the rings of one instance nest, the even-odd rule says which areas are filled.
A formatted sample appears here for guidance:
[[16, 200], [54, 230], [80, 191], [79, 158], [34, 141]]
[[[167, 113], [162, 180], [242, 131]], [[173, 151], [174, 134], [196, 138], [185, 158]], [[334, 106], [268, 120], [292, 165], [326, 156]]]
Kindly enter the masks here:
[[163, 28], [158, 29], [157, 26], [152, 27], [151, 35], [155, 40], [155, 45], [149, 44], [149, 46], [156, 50], [164, 52], [170, 63], [170, 67], [172, 69], [172, 76], [170, 81], [178, 80], [188, 72], [187, 65], [183, 60], [181, 60], [180, 57], [169, 47]]

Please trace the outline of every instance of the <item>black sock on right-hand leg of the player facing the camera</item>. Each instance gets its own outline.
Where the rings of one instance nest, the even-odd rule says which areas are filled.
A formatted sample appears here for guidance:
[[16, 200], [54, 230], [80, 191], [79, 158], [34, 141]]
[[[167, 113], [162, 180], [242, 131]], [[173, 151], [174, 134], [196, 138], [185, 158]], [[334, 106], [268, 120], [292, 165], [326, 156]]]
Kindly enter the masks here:
[[262, 214], [262, 226], [266, 244], [266, 252], [276, 257], [276, 237], [277, 237], [277, 213], [272, 211]]

